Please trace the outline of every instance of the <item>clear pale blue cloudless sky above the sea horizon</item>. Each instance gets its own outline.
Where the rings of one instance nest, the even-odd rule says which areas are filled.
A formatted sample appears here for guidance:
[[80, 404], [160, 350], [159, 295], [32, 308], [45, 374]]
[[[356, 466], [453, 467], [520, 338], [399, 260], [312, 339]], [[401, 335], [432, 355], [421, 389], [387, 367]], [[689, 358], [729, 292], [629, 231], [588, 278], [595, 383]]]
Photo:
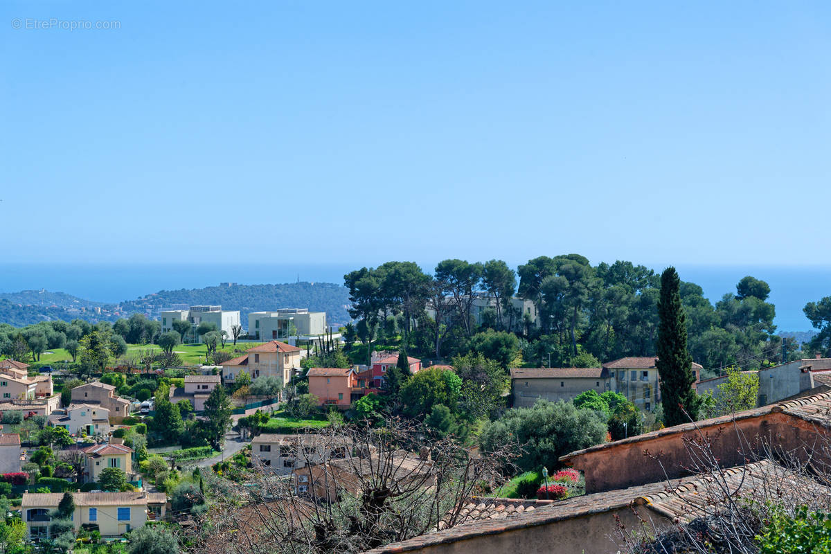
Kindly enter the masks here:
[[831, 5], [570, 3], [2, 2], [2, 258], [827, 263]]

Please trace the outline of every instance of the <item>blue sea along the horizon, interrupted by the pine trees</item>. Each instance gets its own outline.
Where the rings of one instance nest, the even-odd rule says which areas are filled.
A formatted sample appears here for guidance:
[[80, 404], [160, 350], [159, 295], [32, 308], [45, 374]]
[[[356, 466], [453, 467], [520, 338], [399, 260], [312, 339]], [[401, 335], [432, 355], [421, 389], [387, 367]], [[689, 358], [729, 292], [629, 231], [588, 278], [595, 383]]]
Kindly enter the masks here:
[[[286, 282], [333, 282], [342, 284], [347, 272], [360, 263], [255, 264], [255, 263], [145, 263], [66, 264], [2, 263], [0, 292], [45, 288], [97, 302], [135, 300], [151, 292], [213, 287], [220, 282], [254, 285]], [[420, 264], [435, 267], [435, 262]], [[660, 272], [663, 267], [655, 267]], [[804, 316], [806, 302], [831, 296], [831, 266], [706, 266], [678, 265], [684, 281], [704, 289], [711, 302], [725, 293], [735, 293], [735, 284], [752, 275], [770, 284], [770, 302], [776, 306], [774, 320], [779, 331], [810, 331]]]

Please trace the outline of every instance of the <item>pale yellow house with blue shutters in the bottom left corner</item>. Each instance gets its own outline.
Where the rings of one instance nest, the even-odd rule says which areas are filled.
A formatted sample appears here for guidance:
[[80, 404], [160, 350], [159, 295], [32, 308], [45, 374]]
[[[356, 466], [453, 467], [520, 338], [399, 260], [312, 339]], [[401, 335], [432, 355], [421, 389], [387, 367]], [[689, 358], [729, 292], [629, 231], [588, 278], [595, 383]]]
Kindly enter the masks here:
[[[165, 493], [71, 493], [75, 501], [72, 523], [76, 531], [98, 526], [102, 537], [118, 537], [148, 520], [165, 517]], [[49, 538], [49, 512], [56, 509], [63, 493], [23, 493], [21, 515], [29, 540]]]

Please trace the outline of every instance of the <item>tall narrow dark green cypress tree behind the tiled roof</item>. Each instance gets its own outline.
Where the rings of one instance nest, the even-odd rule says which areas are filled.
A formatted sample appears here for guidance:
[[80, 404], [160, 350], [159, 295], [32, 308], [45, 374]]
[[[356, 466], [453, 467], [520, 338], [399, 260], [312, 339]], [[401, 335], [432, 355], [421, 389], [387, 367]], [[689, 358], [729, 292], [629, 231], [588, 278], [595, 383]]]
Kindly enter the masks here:
[[689, 422], [698, 411], [698, 397], [693, 390], [696, 378], [692, 375], [692, 356], [686, 350], [686, 316], [681, 306], [680, 289], [678, 272], [675, 267], [667, 267], [661, 273], [656, 346], [656, 366], [661, 377], [661, 402], [667, 427]]

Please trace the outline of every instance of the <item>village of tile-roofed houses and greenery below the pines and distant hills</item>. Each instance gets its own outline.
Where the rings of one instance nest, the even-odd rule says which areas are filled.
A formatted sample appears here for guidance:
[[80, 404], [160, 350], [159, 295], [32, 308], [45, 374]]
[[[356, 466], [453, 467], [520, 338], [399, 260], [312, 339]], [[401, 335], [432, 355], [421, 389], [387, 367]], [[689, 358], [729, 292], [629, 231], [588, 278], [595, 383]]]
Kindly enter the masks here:
[[[425, 287], [409, 293], [420, 310], [368, 312], [350, 277], [356, 321], [337, 330], [306, 308], [241, 321], [222, 306], [7, 329], [0, 493], [14, 552], [120, 552], [114, 539], [144, 535], [170, 552], [656, 552], [695, 526], [723, 535], [727, 498], [759, 506], [722, 537], [735, 542], [774, 503], [828, 497], [831, 358], [804, 345], [752, 369], [692, 361], [687, 326], [671, 326], [691, 313], [674, 270], [652, 352], [570, 354], [564, 326], [565, 355], [538, 358], [573, 362], [562, 367], [524, 360], [523, 342], [557, 337], [544, 302]], [[419, 346], [422, 317], [457, 338]], [[77, 341], [72, 360], [37, 360], [50, 354], [36, 331]]]

